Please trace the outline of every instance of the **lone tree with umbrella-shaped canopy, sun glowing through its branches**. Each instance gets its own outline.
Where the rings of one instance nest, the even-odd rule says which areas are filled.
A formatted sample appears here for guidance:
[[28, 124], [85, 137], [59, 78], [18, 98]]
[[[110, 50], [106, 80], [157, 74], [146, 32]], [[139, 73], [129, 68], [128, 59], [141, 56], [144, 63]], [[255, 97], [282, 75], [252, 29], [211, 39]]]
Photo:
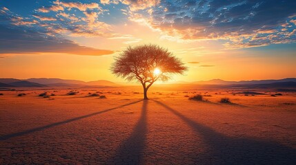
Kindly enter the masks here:
[[144, 100], [148, 99], [147, 91], [155, 81], [169, 80], [172, 74], [183, 74], [186, 70], [179, 58], [158, 45], [128, 47], [115, 57], [115, 63], [111, 66], [112, 74], [141, 83]]

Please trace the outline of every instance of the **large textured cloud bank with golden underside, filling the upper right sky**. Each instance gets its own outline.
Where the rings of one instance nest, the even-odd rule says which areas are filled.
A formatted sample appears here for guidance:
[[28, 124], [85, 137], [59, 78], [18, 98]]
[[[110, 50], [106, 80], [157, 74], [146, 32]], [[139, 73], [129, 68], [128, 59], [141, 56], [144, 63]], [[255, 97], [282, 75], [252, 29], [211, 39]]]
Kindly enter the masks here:
[[[129, 19], [160, 31], [162, 39], [178, 42], [224, 40], [230, 43], [228, 47], [232, 44], [266, 45], [281, 43], [284, 34], [279, 32], [284, 23], [289, 23], [288, 32], [296, 28], [293, 21], [296, 1], [204, 0], [155, 4], [146, 14], [136, 10], [130, 12]], [[257, 43], [250, 43], [253, 36], [271, 34], [278, 37], [268, 42], [257, 39]], [[286, 36], [283, 42], [295, 42], [295, 36]]]

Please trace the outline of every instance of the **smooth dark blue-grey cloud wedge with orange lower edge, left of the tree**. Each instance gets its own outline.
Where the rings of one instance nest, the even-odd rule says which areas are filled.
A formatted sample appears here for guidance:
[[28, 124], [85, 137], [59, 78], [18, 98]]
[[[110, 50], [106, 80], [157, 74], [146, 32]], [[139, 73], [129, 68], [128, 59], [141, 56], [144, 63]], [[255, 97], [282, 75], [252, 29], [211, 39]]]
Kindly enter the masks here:
[[0, 36], [0, 54], [64, 53], [101, 56], [114, 53], [112, 50], [97, 50], [67, 39], [17, 27], [0, 25]]

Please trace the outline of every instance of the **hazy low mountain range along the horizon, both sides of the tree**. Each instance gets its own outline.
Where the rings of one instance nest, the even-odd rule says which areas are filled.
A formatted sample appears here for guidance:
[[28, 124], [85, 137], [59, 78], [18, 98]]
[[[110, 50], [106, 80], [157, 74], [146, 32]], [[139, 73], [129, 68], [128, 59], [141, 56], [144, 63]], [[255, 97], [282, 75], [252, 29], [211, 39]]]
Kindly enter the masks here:
[[[226, 81], [221, 79], [213, 79], [208, 81], [195, 82], [177, 82], [175, 84], [191, 84], [191, 85], [217, 85], [228, 87], [296, 87], [296, 78], [284, 78], [280, 80], [242, 80], [242, 81]], [[64, 80], [60, 78], [28, 78], [20, 80], [16, 78], [0, 78], [0, 87], [95, 87], [95, 86], [120, 86], [108, 80], [97, 80], [84, 82], [81, 80]]]

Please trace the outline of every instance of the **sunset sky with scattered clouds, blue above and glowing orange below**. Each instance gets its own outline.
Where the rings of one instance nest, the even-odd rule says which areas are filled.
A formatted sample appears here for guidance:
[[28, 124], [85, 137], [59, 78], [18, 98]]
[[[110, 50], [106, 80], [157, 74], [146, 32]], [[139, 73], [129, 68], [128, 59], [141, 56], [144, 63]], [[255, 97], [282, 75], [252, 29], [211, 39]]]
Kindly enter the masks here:
[[124, 82], [129, 45], [188, 67], [175, 81], [296, 77], [295, 0], [0, 0], [0, 78]]

